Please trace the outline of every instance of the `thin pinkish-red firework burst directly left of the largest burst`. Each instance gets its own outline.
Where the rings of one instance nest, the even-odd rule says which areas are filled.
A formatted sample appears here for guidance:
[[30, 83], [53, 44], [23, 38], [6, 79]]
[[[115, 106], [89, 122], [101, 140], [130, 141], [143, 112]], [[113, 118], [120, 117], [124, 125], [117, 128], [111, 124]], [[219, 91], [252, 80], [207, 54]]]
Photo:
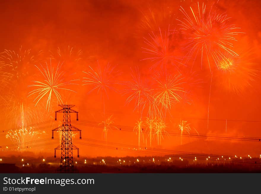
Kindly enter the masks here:
[[177, 64], [182, 64], [180, 61], [184, 57], [175, 55], [173, 40], [171, 40], [172, 35], [169, 29], [162, 34], [159, 28], [159, 35], [155, 35], [155, 33], [152, 32], [152, 34], [149, 34], [149, 37], [151, 40], [144, 38], [144, 43], [147, 44], [149, 48], [142, 47], [142, 49], [144, 49], [144, 53], [151, 56], [143, 60], [150, 60], [154, 62], [151, 69], [158, 66], [161, 69], [166, 69], [168, 64], [174, 65], [175, 67], [177, 67]]

